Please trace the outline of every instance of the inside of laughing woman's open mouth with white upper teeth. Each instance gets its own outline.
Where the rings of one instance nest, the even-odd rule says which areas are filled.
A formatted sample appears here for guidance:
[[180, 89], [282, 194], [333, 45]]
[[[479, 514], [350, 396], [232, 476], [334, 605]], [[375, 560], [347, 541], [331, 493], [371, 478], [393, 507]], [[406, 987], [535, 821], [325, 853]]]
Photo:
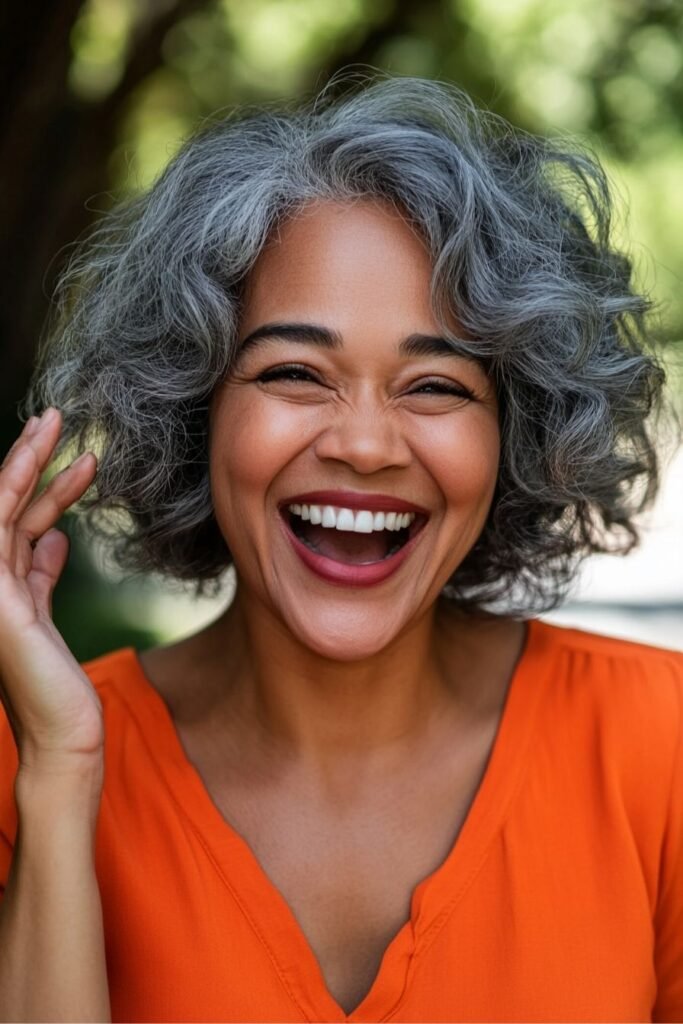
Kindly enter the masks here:
[[331, 506], [290, 505], [285, 522], [310, 551], [345, 565], [373, 565], [397, 554], [425, 525], [421, 513], [352, 512]]

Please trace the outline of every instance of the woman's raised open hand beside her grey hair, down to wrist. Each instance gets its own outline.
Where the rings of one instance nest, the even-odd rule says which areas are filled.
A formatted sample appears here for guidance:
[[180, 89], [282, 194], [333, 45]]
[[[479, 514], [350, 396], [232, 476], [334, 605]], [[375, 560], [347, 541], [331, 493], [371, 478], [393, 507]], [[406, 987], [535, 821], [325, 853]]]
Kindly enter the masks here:
[[35, 497], [60, 428], [56, 409], [32, 417], [0, 467], [0, 699], [19, 773], [69, 772], [101, 760], [103, 746], [99, 698], [52, 622], [69, 539], [51, 527], [92, 482], [93, 453]]

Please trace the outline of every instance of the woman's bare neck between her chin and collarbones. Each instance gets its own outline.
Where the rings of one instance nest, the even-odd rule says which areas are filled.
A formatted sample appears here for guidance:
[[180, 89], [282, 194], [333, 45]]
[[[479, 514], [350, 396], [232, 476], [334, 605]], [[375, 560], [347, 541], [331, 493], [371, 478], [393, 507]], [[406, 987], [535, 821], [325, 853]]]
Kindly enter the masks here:
[[[461, 630], [462, 644], [454, 645], [454, 629]], [[226, 700], [245, 734], [256, 731], [269, 745], [318, 764], [405, 751], [444, 713], [465, 707], [459, 666], [472, 664], [466, 634], [453, 611], [433, 605], [372, 656], [336, 662], [298, 642], [238, 587], [207, 636], [212, 702]], [[470, 689], [471, 682], [470, 671]]]

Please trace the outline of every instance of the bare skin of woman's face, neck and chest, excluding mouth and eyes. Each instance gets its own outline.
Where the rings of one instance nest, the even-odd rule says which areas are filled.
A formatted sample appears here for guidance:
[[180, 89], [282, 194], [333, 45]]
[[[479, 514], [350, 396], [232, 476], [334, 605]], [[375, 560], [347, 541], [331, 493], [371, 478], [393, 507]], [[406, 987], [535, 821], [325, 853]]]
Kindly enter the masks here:
[[[462, 827], [523, 642], [521, 624], [438, 599], [485, 521], [500, 435], [478, 364], [397, 354], [410, 334], [440, 334], [430, 273], [387, 206], [318, 203], [281, 227], [251, 273], [240, 339], [307, 323], [343, 345], [270, 339], [215, 394], [212, 492], [236, 598], [201, 634], [141, 657], [347, 1012]], [[259, 380], [292, 362], [314, 380]], [[334, 586], [299, 561], [278, 511], [317, 488], [389, 494], [429, 520], [392, 577]]]

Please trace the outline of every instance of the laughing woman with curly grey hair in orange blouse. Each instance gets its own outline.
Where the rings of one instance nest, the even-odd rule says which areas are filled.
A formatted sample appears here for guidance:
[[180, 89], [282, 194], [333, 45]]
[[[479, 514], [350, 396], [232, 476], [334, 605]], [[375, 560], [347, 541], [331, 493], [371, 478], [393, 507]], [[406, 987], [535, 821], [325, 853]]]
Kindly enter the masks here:
[[[682, 1019], [681, 658], [532, 617], [656, 485], [597, 163], [326, 92], [190, 140], [62, 295], [0, 474], [3, 1019]], [[91, 484], [121, 565], [233, 564], [216, 622], [76, 664]]]

